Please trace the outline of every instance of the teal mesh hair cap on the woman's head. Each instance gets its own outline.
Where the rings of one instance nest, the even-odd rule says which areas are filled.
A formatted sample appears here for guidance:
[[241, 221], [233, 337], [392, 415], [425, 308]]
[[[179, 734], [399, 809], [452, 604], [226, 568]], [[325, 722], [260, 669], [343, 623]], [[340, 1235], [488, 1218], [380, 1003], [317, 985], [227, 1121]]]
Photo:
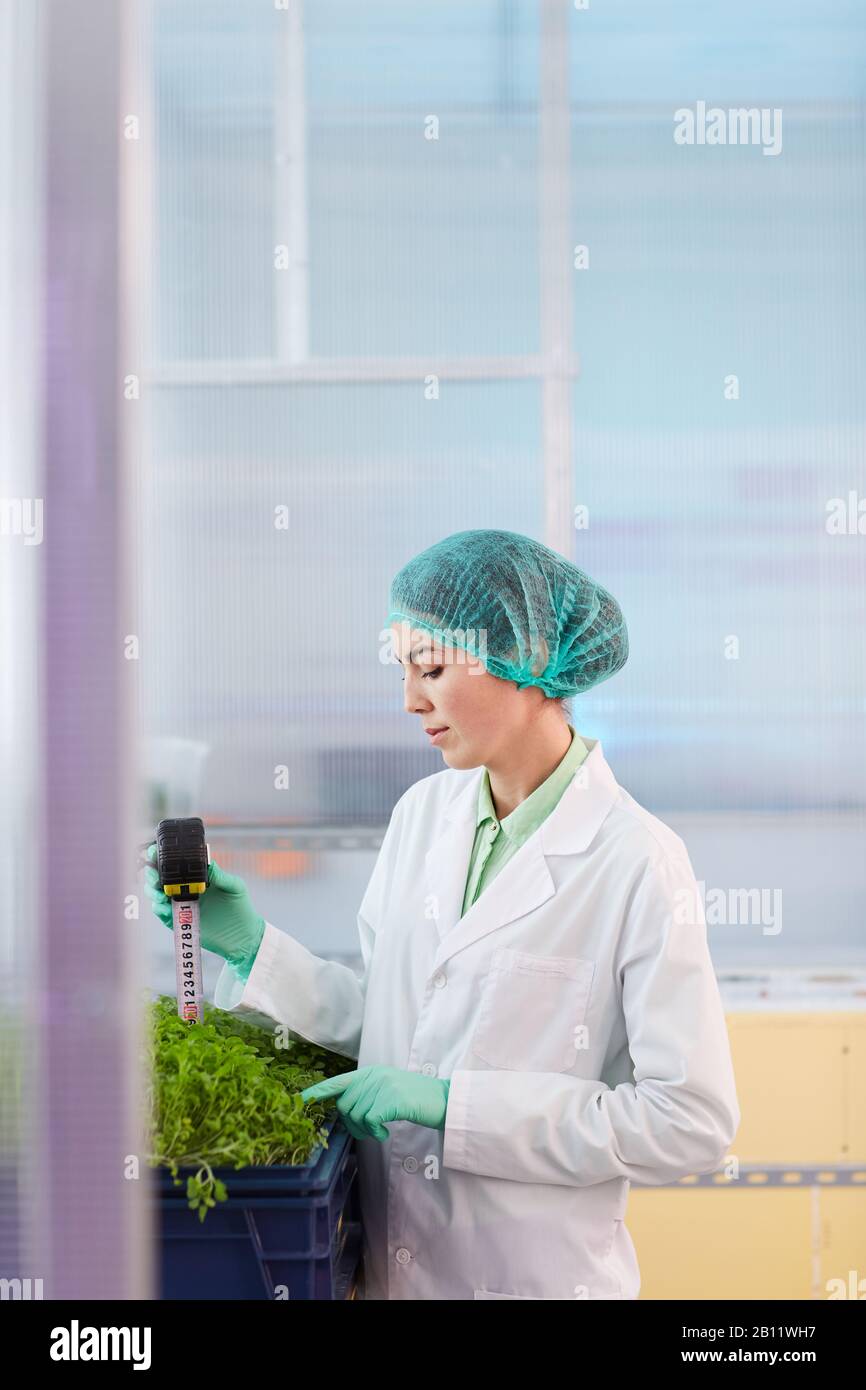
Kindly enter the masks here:
[[492, 676], [581, 695], [628, 657], [617, 600], [539, 541], [457, 531], [421, 550], [391, 584], [385, 626], [409, 623], [478, 656]]

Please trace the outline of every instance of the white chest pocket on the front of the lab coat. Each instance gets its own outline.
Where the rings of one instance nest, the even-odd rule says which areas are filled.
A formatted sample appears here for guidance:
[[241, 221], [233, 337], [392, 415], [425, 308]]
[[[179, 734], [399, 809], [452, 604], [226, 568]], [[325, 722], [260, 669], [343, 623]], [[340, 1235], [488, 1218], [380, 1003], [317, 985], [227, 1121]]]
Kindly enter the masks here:
[[509, 1072], [570, 1072], [578, 1061], [595, 962], [500, 947], [484, 980], [473, 1052]]

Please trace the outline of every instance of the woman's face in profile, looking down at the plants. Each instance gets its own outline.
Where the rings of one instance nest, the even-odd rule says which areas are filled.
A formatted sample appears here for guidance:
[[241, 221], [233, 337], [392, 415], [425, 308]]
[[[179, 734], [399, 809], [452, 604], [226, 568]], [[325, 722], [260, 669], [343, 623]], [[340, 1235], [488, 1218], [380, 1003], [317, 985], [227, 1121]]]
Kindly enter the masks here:
[[[445, 730], [425, 738], [449, 767], [491, 766], [507, 759], [534, 717], [538, 689], [518, 691], [513, 681], [491, 676], [484, 663], [461, 648], [442, 646], [409, 623], [391, 627], [392, 649], [403, 667], [403, 703], [423, 728]], [[411, 659], [410, 659], [411, 657]]]

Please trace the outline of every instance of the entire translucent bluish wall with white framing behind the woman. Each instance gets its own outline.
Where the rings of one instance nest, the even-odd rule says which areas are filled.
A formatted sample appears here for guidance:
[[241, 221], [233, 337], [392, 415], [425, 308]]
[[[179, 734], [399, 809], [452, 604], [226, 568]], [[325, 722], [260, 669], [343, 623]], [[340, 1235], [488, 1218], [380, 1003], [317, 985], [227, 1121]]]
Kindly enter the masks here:
[[[516, 530], [628, 624], [577, 727], [716, 855], [710, 881], [765, 845], [783, 942], [819, 949], [822, 895], [790, 869], [810, 815], [863, 805], [859, 8], [152, 18], [142, 824], [210, 817], [278, 923], [350, 949], [339, 848], [246, 860], [243, 837], [382, 827], [442, 766], [379, 660], [382, 599], [449, 532]], [[766, 111], [770, 153], [677, 143], [677, 113], [712, 106]], [[806, 820], [737, 838], [774, 810]]]

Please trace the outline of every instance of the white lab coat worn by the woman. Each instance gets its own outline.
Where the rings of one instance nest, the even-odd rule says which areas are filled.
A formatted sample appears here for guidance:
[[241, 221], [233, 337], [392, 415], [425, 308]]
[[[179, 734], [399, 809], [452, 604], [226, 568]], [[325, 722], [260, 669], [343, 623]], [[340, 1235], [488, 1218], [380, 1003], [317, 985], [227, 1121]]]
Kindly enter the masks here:
[[[359, 912], [363, 977], [267, 923], [215, 1004], [450, 1077], [445, 1130], [361, 1140], [367, 1298], [637, 1298], [630, 1182], [724, 1158], [740, 1109], [685, 845], [598, 739], [460, 919], [482, 769], [396, 803]], [[671, 1251], [671, 1255], [676, 1254]]]

